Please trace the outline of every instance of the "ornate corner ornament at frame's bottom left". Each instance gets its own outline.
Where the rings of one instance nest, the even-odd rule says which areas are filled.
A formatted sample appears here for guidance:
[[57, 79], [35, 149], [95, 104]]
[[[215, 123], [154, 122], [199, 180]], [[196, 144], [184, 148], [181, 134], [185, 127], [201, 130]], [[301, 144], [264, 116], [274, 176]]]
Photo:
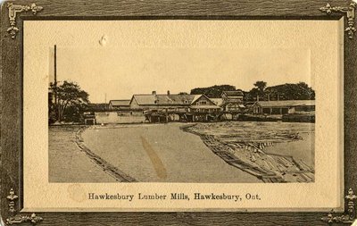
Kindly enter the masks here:
[[15, 195], [13, 189], [10, 189], [10, 195], [6, 197], [9, 199], [9, 212], [11, 213], [11, 217], [6, 219], [7, 224], [21, 223], [21, 222], [31, 222], [32, 224], [36, 224], [37, 222], [41, 222], [43, 219], [40, 216], [37, 216], [35, 213], [31, 215], [15, 215], [15, 200], [18, 196]]

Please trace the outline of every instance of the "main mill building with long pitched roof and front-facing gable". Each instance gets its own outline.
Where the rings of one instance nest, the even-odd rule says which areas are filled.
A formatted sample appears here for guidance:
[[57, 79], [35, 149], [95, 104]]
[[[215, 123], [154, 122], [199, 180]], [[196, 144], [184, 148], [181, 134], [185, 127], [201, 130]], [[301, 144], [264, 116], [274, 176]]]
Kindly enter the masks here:
[[111, 100], [107, 111], [95, 114], [90, 123], [133, 123], [166, 121], [215, 121], [222, 112], [222, 99], [189, 94], [135, 94], [131, 99]]

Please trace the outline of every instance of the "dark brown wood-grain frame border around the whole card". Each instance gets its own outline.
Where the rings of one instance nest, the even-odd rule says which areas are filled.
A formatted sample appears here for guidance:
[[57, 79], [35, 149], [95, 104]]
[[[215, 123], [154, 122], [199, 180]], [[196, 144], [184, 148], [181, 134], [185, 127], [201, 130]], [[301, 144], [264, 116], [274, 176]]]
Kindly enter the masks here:
[[[0, 209], [6, 224], [328, 225], [356, 219], [357, 38], [355, 2], [345, 0], [51, 0], [5, 2], [1, 9]], [[27, 13], [31, 11], [33, 15]], [[226, 13], [229, 12], [229, 13]], [[75, 15], [75, 16], [74, 16]], [[19, 213], [22, 210], [22, 28], [25, 20], [339, 20], [345, 18], [345, 213]], [[38, 214], [38, 215], [37, 215]], [[1, 221], [0, 219], [0, 221]]]

